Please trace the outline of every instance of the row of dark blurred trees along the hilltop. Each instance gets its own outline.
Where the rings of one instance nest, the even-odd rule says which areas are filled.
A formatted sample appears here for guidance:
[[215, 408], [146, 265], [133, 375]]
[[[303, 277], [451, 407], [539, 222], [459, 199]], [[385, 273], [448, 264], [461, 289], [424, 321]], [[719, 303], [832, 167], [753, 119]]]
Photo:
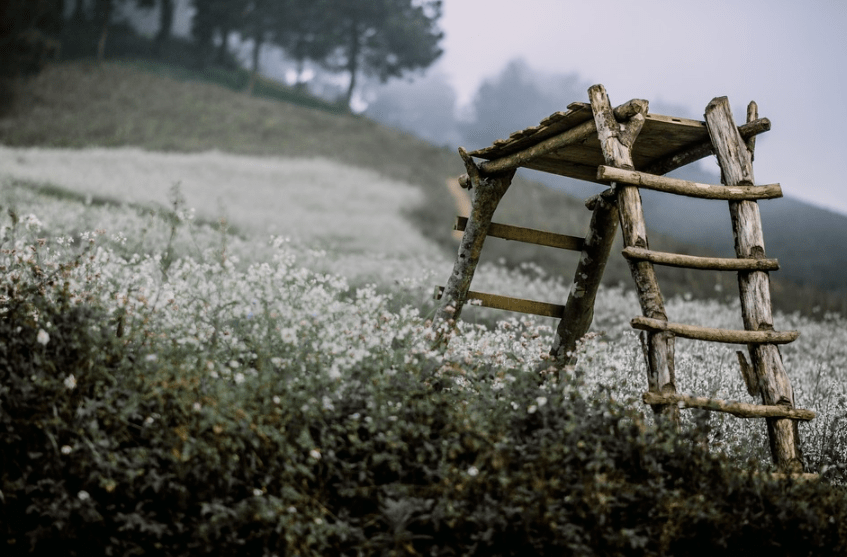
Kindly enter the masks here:
[[[306, 62], [349, 76], [349, 106], [360, 76], [387, 81], [424, 69], [441, 55], [441, 0], [190, 0], [196, 63], [222, 64], [229, 39], [251, 42], [255, 84], [265, 45], [283, 49], [298, 68]], [[120, 7], [157, 10], [153, 53], [172, 45], [177, 0], [7, 0], [0, 5], [0, 76], [37, 72], [61, 51], [63, 30], [84, 32], [98, 60], [105, 57]], [[67, 16], [67, 18], [66, 18]], [[67, 34], [67, 33], [65, 33]]]

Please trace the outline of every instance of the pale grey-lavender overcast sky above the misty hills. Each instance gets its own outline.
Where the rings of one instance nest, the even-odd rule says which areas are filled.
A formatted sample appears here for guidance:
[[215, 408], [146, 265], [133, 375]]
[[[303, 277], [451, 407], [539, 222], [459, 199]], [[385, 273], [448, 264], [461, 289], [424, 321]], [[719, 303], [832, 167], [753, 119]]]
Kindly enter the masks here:
[[439, 69], [460, 103], [517, 57], [602, 83], [615, 105], [644, 98], [702, 119], [725, 95], [743, 121], [755, 100], [772, 123], [756, 182], [847, 215], [845, 0], [444, 0], [441, 27]]

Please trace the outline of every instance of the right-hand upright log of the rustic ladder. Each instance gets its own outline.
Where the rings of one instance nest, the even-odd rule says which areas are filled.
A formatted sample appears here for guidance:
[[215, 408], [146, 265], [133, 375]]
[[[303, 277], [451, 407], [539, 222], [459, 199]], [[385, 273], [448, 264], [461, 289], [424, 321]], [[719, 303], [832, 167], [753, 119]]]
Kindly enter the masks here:
[[[735, 127], [726, 97], [712, 100], [706, 107], [706, 127], [712, 139], [715, 155], [727, 186], [754, 184], [752, 151], [754, 144], [742, 139]], [[756, 117], [755, 105], [748, 111], [748, 120]], [[763, 259], [765, 242], [759, 205], [755, 201], [730, 201], [735, 252], [740, 258]], [[741, 312], [744, 328], [750, 331], [772, 331], [770, 277], [766, 271], [740, 271], [738, 286], [741, 293]], [[748, 385], [755, 387], [765, 405], [794, 408], [794, 392], [782, 363], [779, 347], [774, 344], [748, 346], [755, 374]], [[784, 471], [802, 472], [803, 454], [800, 450], [797, 423], [782, 418], [767, 418], [771, 456]]]

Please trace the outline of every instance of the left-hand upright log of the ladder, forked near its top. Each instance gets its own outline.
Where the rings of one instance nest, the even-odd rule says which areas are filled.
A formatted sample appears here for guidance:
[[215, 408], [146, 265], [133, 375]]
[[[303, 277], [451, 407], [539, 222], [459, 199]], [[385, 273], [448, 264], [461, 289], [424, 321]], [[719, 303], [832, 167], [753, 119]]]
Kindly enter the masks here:
[[[597, 136], [603, 150], [606, 164], [616, 168], [634, 170], [632, 163], [632, 145], [647, 113], [647, 102], [642, 111], [636, 113], [626, 123], [619, 123], [612, 112], [609, 97], [602, 85], [588, 89], [594, 121], [597, 124]], [[626, 247], [649, 249], [647, 227], [644, 223], [644, 211], [641, 194], [635, 186], [612, 183], [617, 192], [618, 212], [621, 231]], [[665, 305], [659, 291], [659, 283], [653, 264], [649, 261], [629, 261], [632, 278], [638, 291], [638, 301], [644, 317], [667, 321]], [[674, 376], [674, 335], [670, 331], [645, 331], [642, 343], [646, 347], [648, 390], [657, 394], [676, 394]], [[657, 404], [653, 406], [657, 415], [662, 415], [674, 423], [679, 423], [679, 409], [676, 405]]]

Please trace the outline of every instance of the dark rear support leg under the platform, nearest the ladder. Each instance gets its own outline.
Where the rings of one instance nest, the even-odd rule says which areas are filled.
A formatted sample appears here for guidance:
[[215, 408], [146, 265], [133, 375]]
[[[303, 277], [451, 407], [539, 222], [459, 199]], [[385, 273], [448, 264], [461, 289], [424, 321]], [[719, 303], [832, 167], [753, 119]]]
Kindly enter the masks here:
[[574, 362], [576, 343], [591, 327], [594, 300], [618, 231], [618, 207], [615, 201], [598, 196], [592, 202], [594, 212], [591, 224], [585, 236], [565, 311], [550, 349], [550, 356], [559, 367]]

